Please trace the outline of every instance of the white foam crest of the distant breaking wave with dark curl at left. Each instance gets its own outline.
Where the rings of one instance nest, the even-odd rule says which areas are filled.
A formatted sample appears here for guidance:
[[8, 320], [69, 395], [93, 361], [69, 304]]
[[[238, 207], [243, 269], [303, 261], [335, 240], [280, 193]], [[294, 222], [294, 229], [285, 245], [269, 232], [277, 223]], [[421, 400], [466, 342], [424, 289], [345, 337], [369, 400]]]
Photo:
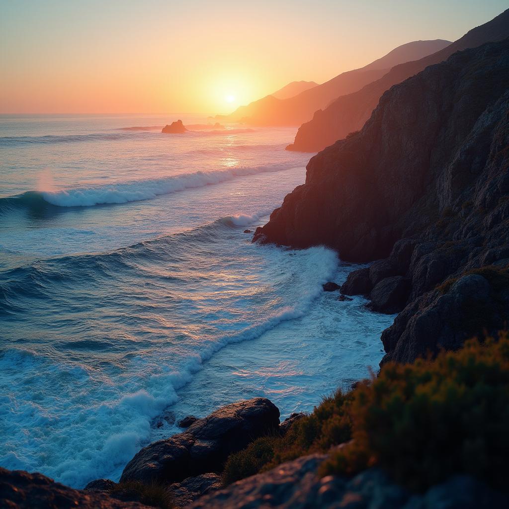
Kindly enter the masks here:
[[195, 172], [163, 179], [133, 180], [97, 187], [82, 187], [62, 191], [42, 191], [46, 202], [59, 207], [91, 207], [93, 205], [151, 200], [163, 194], [195, 189], [228, 182], [238, 177], [280, 172], [295, 167], [295, 163], [271, 166], [240, 167], [210, 172]]

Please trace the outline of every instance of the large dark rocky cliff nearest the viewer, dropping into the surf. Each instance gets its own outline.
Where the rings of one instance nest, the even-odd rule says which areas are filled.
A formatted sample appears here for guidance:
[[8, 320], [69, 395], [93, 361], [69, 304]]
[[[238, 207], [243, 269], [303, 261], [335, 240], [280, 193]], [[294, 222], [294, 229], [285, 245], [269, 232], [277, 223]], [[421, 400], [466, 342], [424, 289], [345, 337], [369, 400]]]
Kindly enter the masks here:
[[[305, 184], [255, 233], [262, 242], [324, 244], [345, 261], [388, 257], [344, 289], [371, 293], [376, 303], [399, 285], [398, 299], [388, 300], [401, 303], [395, 310], [408, 305], [384, 332], [387, 358], [411, 361], [479, 332], [462, 325], [467, 287], [453, 285], [452, 303], [435, 288], [468, 269], [509, 264], [508, 79], [505, 40], [393, 87], [360, 132], [309, 161]], [[489, 280], [489, 288], [470, 283], [486, 294], [483, 306], [503, 297]], [[493, 330], [503, 326], [497, 313]]]

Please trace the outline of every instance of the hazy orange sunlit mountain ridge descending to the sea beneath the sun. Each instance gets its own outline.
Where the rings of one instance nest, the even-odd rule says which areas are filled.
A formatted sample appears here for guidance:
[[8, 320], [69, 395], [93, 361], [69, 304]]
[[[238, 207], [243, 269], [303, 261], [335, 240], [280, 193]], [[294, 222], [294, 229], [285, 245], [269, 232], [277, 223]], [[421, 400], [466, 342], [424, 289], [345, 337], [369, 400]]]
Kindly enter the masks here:
[[361, 69], [344, 72], [294, 97], [277, 99], [269, 95], [247, 106], [240, 106], [226, 118], [253, 125], [300, 125], [310, 120], [316, 110], [325, 108], [339, 96], [360, 90], [386, 74], [392, 66], [429, 55], [448, 44], [450, 42], [441, 40], [404, 44]]

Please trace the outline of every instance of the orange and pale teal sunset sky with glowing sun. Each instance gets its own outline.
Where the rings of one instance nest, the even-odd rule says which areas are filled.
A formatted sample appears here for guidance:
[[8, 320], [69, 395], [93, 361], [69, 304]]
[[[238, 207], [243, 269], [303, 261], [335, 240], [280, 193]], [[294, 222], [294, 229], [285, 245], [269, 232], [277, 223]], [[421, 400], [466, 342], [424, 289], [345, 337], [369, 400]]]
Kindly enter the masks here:
[[0, 0], [2, 113], [227, 113], [418, 39], [454, 41], [504, 0]]

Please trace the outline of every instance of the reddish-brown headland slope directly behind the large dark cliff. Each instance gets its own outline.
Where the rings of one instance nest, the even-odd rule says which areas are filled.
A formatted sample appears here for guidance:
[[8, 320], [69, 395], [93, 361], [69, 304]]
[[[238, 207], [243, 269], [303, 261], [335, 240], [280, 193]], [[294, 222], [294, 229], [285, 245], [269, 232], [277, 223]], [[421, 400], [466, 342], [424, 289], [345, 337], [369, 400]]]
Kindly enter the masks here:
[[453, 44], [421, 60], [393, 67], [387, 74], [361, 90], [338, 97], [325, 109], [319, 109], [309, 122], [299, 128], [295, 142], [287, 150], [317, 152], [362, 128], [378, 104], [380, 96], [394, 84], [401, 83], [426, 67], [446, 60], [456, 51], [474, 48], [509, 37], [509, 10], [472, 29]]

